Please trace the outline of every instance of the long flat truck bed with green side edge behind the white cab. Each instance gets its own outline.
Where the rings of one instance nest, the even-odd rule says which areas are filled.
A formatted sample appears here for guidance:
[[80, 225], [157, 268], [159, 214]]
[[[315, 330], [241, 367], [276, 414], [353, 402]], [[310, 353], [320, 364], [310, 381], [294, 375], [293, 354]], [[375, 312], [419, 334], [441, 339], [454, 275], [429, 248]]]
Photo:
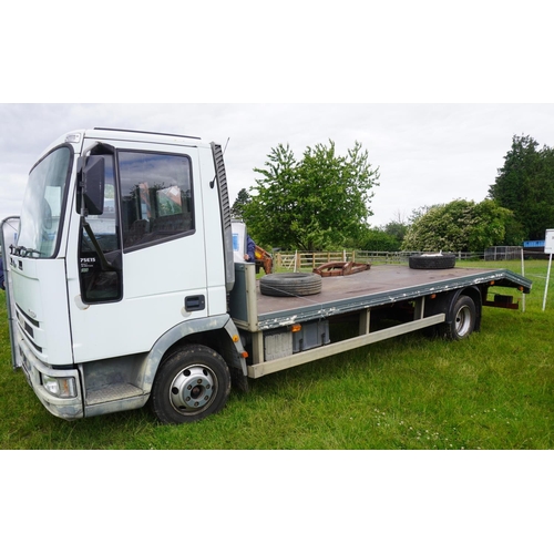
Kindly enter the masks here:
[[[506, 269], [411, 269], [376, 266], [368, 271], [322, 279], [312, 296], [264, 296], [254, 265], [235, 265], [230, 315], [249, 351], [248, 375], [261, 377], [360, 346], [428, 327], [452, 324], [460, 296], [474, 305], [471, 330], [480, 326], [483, 306], [517, 308], [512, 297], [489, 298], [491, 287], [531, 291], [532, 283]], [[329, 324], [355, 319], [355, 337], [334, 342]], [[376, 319], [397, 320], [384, 328]]]

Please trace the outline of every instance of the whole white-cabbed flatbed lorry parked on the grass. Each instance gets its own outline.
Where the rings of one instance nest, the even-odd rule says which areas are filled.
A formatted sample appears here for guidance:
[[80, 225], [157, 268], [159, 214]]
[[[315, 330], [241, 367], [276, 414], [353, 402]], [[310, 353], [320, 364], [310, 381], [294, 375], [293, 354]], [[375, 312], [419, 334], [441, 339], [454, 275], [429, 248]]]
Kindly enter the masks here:
[[[0, 237], [13, 367], [68, 420], [150, 402], [163, 422], [197, 421], [232, 383], [424, 328], [465, 338], [483, 306], [517, 308], [491, 287], [532, 286], [503, 269], [381, 266], [317, 290], [300, 275], [298, 294], [277, 276], [261, 295], [254, 264], [234, 259], [220, 146], [160, 133], [60, 137]], [[355, 331], [336, 339], [345, 319]]]

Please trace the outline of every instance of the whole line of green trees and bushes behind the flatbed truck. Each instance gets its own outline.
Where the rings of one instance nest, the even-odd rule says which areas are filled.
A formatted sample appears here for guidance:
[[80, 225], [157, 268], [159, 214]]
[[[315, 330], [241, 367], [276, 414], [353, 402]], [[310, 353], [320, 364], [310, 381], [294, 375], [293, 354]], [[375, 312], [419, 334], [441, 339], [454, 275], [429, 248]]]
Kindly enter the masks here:
[[233, 215], [266, 248], [481, 252], [544, 239], [554, 228], [554, 150], [531, 136], [513, 136], [484, 201], [422, 206], [381, 227], [368, 223], [379, 168], [358, 142], [347, 155], [332, 141], [318, 144], [300, 161], [279, 144], [254, 171], [256, 185], [238, 193]]

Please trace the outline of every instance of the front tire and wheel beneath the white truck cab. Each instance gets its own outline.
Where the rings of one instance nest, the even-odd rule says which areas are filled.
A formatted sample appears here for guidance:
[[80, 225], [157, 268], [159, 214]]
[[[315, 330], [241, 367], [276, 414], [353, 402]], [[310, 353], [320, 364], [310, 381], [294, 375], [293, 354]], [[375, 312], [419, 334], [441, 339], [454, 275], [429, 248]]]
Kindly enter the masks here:
[[217, 413], [230, 393], [230, 372], [211, 348], [192, 345], [162, 362], [150, 403], [163, 423], [179, 424]]

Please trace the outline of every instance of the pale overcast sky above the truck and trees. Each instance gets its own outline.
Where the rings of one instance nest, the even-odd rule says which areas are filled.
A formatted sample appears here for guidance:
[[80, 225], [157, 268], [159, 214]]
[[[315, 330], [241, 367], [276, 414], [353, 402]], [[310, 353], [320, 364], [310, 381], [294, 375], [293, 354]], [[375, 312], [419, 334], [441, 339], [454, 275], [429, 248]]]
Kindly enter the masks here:
[[28, 173], [59, 136], [93, 126], [201, 136], [226, 147], [232, 202], [255, 167], [289, 144], [346, 154], [358, 141], [379, 168], [372, 226], [456, 198], [481, 202], [511, 148], [529, 134], [554, 146], [554, 104], [540, 103], [2, 103], [0, 218], [18, 215]]

